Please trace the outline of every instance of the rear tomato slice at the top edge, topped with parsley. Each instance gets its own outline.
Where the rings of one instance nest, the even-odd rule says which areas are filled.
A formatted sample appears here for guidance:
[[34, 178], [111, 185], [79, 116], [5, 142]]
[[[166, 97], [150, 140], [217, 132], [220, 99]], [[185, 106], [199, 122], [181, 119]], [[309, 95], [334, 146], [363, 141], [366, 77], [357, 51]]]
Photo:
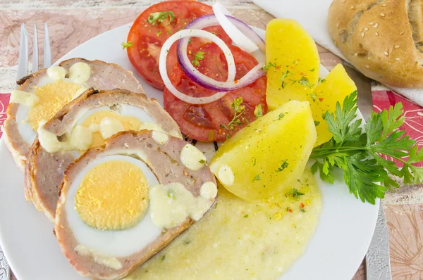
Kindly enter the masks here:
[[[150, 15], [159, 12], [172, 12], [174, 17], [172, 18], [169, 13], [166, 13], [160, 18], [163, 21], [156, 20], [151, 23], [152, 20], [149, 20]], [[127, 48], [130, 63], [149, 84], [152, 84], [157, 89], [164, 90], [164, 83], [159, 73], [161, 46], [163, 46], [168, 37], [184, 29], [195, 18], [212, 13], [212, 6], [197, 1], [165, 1], [150, 6], [138, 16], [130, 28], [128, 42], [132, 42], [132, 46]], [[220, 26], [208, 27], [204, 30], [214, 32], [224, 42], [231, 44], [231, 39]], [[192, 38], [188, 50], [207, 43], [204, 39]], [[173, 66], [178, 63], [176, 44], [173, 44], [171, 49], [169, 49], [166, 63], [170, 73]]]

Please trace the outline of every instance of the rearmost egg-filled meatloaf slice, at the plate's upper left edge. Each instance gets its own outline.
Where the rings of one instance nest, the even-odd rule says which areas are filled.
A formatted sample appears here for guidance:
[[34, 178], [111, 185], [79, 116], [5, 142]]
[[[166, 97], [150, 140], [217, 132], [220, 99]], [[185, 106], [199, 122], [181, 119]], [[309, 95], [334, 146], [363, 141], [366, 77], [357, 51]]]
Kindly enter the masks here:
[[132, 72], [103, 61], [72, 58], [49, 69], [39, 70], [18, 81], [11, 94], [4, 122], [4, 140], [21, 171], [39, 122], [47, 121], [66, 103], [89, 87], [128, 89], [144, 93]]

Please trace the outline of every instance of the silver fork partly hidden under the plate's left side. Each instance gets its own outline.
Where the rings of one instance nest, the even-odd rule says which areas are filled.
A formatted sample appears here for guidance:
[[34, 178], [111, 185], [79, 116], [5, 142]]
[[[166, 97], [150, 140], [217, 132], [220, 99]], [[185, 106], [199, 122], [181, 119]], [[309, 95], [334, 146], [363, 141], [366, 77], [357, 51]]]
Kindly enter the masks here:
[[[26, 75], [29, 75], [33, 72], [37, 72], [38, 68], [38, 36], [37, 36], [37, 25], [34, 24], [34, 44], [32, 49], [32, 68], [28, 72], [28, 65], [30, 61], [30, 53], [28, 51], [28, 33], [25, 28], [25, 25], [22, 23], [20, 25], [20, 46], [19, 46], [19, 62], [18, 62], [18, 72], [16, 75], [16, 80], [22, 79]], [[43, 59], [43, 68], [49, 68], [51, 65], [51, 49], [50, 49], [50, 39], [49, 39], [49, 30], [47, 29], [47, 23], [44, 23], [44, 59]], [[16, 85], [16, 88], [18, 85]], [[8, 265], [6, 257], [4, 256], [3, 251], [0, 247], [0, 280], [10, 280], [11, 279], [11, 269]]]

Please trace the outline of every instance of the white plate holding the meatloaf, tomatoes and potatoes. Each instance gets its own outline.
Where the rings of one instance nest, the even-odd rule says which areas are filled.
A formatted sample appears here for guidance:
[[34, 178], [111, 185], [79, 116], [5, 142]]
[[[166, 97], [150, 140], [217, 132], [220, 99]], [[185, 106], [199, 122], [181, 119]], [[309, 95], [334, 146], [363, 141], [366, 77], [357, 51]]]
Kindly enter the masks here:
[[[74, 57], [99, 59], [136, 73], [121, 46], [129, 29], [130, 25], [125, 25], [101, 34], [60, 61]], [[264, 34], [263, 30], [257, 32]], [[149, 97], [163, 101], [161, 91], [135, 75]], [[0, 180], [0, 243], [18, 279], [81, 279], [62, 255], [51, 222], [25, 201], [23, 174], [13, 163], [4, 141], [0, 141]], [[369, 247], [379, 200], [376, 205], [358, 201], [348, 192], [342, 178], [334, 185], [320, 182], [320, 186], [323, 209], [317, 231], [305, 254], [281, 280], [350, 280]]]

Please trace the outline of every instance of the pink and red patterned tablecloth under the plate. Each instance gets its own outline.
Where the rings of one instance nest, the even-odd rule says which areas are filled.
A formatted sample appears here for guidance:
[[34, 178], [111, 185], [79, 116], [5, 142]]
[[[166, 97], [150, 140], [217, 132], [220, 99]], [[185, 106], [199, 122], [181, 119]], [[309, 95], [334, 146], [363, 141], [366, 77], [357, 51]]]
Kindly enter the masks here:
[[[314, 0], [318, 1], [318, 0]], [[0, 126], [6, 119], [8, 98], [14, 89], [18, 63], [20, 23], [25, 23], [32, 42], [32, 25], [48, 23], [53, 61], [88, 39], [131, 23], [154, 0], [3, 0], [0, 4]], [[205, 1], [212, 4], [213, 1]], [[265, 28], [273, 18], [248, 0], [221, 0], [238, 18]], [[39, 40], [43, 34], [39, 32]], [[30, 43], [30, 50], [32, 45]], [[40, 50], [42, 53], [42, 50]], [[333, 68], [341, 59], [319, 48], [321, 62]], [[40, 58], [42, 61], [42, 58]], [[423, 146], [423, 108], [377, 84], [373, 87], [374, 110], [403, 102], [403, 129]], [[1, 132], [0, 132], [1, 136]], [[1, 160], [1, 159], [0, 159]], [[422, 163], [423, 165], [423, 163]], [[1, 178], [0, 178], [1, 180]], [[423, 279], [423, 191], [422, 185], [402, 186], [383, 201], [391, 241], [393, 279]], [[361, 265], [354, 280], [365, 279]]]

